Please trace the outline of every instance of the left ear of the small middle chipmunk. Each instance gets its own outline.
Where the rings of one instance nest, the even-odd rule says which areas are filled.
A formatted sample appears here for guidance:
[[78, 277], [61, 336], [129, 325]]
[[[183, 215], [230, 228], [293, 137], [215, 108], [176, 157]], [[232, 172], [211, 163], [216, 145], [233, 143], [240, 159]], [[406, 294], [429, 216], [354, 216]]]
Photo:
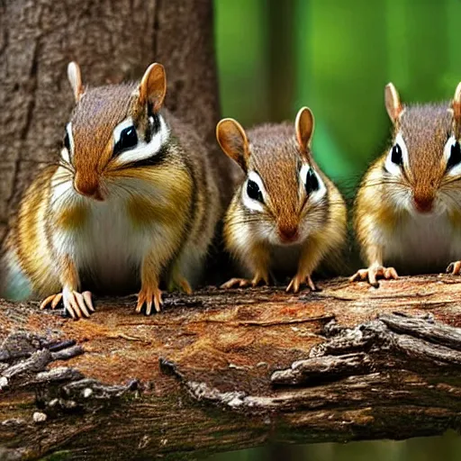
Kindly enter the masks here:
[[216, 139], [224, 153], [247, 171], [249, 140], [240, 123], [234, 119], [222, 119], [216, 125]]

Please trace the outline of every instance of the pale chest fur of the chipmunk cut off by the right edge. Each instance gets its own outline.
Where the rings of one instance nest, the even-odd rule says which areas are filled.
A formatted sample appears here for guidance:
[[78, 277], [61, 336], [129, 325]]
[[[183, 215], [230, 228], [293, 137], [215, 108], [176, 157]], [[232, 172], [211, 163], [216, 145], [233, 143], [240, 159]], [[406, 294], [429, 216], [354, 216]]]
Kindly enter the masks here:
[[[401, 271], [440, 271], [461, 258], [461, 232], [446, 213], [407, 215], [384, 244], [384, 264]], [[402, 273], [403, 275], [403, 273]]]

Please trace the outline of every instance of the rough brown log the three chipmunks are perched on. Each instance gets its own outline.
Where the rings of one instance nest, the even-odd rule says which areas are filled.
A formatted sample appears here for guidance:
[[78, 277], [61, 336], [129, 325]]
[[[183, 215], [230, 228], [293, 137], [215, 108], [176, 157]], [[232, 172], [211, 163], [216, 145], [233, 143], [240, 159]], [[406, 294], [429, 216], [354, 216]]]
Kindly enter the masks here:
[[0, 458], [182, 459], [461, 429], [461, 280], [0, 303]]

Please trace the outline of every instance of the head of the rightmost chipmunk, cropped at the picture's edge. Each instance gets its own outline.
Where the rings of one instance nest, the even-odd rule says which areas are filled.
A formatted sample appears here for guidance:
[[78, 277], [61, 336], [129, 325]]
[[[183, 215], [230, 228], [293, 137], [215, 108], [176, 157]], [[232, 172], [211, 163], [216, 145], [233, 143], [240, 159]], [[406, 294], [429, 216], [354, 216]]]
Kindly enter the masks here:
[[[392, 83], [385, 106], [393, 145], [384, 162], [384, 185], [393, 203], [417, 213], [443, 212], [459, 203], [461, 84], [451, 104], [404, 106]], [[460, 191], [461, 192], [461, 191]]]

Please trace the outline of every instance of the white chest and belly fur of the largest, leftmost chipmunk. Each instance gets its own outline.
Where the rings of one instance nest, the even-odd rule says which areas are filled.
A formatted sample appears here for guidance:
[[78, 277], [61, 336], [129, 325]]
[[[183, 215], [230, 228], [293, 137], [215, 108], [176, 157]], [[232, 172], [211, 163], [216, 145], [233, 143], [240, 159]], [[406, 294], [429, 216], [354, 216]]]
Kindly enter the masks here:
[[[67, 198], [67, 200], [66, 200]], [[68, 256], [80, 276], [90, 277], [95, 285], [132, 285], [139, 277], [142, 258], [161, 238], [161, 225], [151, 222], [136, 226], [127, 210], [127, 197], [111, 196], [104, 202], [77, 195], [72, 185], [59, 191], [55, 212], [63, 203], [82, 207], [83, 219], [75, 227], [57, 227], [52, 233], [57, 256]]]

